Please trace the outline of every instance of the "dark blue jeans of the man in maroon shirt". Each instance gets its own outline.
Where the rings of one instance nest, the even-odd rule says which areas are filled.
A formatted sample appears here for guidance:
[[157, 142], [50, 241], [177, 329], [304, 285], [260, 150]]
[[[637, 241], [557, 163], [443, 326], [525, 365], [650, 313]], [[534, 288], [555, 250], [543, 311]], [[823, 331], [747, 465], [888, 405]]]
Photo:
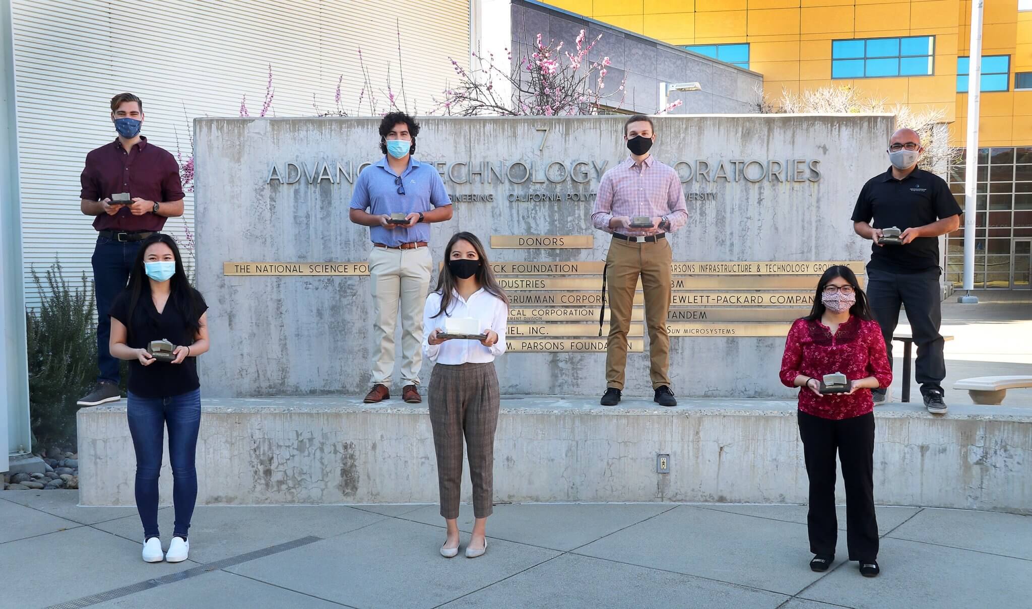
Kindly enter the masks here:
[[120, 379], [119, 360], [111, 357], [108, 345], [111, 338], [111, 319], [107, 311], [115, 297], [129, 283], [132, 263], [136, 261], [140, 242], [117, 242], [97, 237], [93, 249], [93, 291], [97, 297], [97, 365], [100, 367], [98, 381], [118, 384]]

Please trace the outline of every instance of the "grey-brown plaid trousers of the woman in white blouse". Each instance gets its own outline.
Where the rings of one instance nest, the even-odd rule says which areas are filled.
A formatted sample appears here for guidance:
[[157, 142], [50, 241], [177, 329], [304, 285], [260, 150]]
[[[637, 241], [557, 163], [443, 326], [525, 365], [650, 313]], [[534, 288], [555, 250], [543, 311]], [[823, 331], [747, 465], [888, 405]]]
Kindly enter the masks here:
[[438, 453], [441, 515], [458, 518], [462, 484], [462, 438], [465, 437], [473, 482], [473, 513], [491, 515], [494, 430], [498, 425], [498, 377], [494, 363], [439, 363], [430, 373], [427, 394], [433, 447]]

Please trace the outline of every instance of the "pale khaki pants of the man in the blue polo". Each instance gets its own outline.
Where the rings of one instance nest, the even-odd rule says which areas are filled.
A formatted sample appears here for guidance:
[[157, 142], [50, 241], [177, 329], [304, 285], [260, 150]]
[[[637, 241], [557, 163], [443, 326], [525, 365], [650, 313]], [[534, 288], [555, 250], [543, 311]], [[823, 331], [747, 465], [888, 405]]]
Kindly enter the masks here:
[[423, 364], [423, 307], [430, 285], [430, 249], [369, 252], [369, 290], [373, 292], [373, 383], [391, 385], [394, 372], [394, 327], [401, 312], [401, 379], [419, 384]]

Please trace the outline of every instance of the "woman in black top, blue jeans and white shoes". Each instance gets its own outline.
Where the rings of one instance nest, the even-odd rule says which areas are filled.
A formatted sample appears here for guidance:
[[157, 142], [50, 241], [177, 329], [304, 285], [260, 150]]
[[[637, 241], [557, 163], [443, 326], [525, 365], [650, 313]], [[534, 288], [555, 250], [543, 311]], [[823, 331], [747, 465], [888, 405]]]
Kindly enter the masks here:
[[[194, 455], [200, 427], [196, 357], [208, 349], [207, 304], [190, 286], [175, 242], [167, 234], [143, 241], [126, 288], [111, 303], [111, 355], [130, 360], [127, 414], [136, 452], [136, 509], [143, 523], [143, 559], [186, 560], [187, 532], [197, 500]], [[151, 351], [172, 344], [171, 361]], [[165, 426], [172, 466], [175, 528], [162, 552], [158, 535], [158, 476]]]

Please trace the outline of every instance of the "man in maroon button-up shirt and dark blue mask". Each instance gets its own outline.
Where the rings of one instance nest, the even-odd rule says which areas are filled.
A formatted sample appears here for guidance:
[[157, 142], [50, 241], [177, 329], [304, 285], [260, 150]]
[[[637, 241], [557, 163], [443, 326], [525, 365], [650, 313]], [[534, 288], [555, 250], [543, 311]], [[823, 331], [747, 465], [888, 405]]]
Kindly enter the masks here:
[[[111, 123], [118, 138], [86, 155], [80, 177], [79, 205], [87, 216], [96, 216], [97, 245], [93, 250], [93, 284], [97, 296], [97, 386], [78, 400], [97, 406], [122, 398], [119, 361], [107, 351], [111, 324], [107, 310], [126, 287], [136, 260], [139, 243], [159, 232], [165, 218], [183, 215], [183, 183], [180, 166], [168, 152], [139, 134], [143, 102], [131, 93], [111, 98]], [[116, 194], [129, 201], [118, 202]]]

